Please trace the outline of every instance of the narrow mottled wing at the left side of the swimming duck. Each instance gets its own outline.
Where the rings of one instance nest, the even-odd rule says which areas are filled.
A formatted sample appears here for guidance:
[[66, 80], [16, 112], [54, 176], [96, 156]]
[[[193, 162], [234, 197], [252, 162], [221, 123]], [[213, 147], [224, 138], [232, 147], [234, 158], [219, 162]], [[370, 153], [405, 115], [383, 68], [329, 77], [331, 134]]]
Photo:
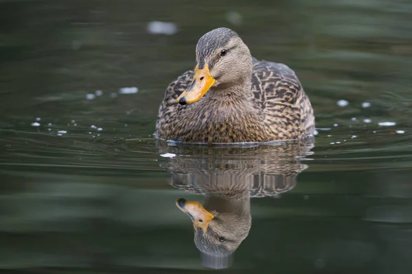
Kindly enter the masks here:
[[190, 85], [192, 82], [194, 71], [186, 71], [172, 83], [169, 84], [165, 91], [165, 97], [159, 106], [159, 113], [156, 121], [156, 135], [170, 136], [172, 131], [172, 119], [176, 117], [176, 113], [181, 105], [176, 103], [177, 97]]

